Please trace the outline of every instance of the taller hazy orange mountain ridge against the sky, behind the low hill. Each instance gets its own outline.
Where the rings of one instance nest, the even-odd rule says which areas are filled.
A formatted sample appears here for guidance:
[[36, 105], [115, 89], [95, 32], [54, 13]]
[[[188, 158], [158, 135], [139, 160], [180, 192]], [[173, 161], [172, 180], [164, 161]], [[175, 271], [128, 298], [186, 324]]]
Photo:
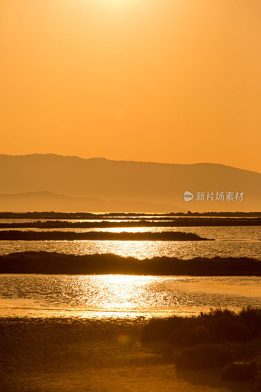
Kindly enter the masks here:
[[[167, 204], [170, 208], [178, 206], [175, 209], [173, 207], [173, 212], [179, 210], [199, 212], [261, 210], [261, 174], [230, 166], [211, 163], [179, 165], [112, 161], [104, 158], [83, 159], [55, 154], [0, 155], [1, 194], [42, 191], [107, 201], [136, 200], [145, 203]], [[197, 192], [213, 192], [214, 194], [216, 192], [244, 192], [244, 196], [243, 201], [196, 201], [194, 197], [192, 201], [185, 202], [183, 198], [185, 191], [190, 191], [194, 195]], [[37, 198], [36, 195], [35, 197]], [[57, 196], [52, 197], [57, 199]], [[31, 198], [31, 203], [33, 203], [32, 200]], [[69, 199], [67, 201], [69, 202]], [[80, 207], [82, 201], [77, 202], [79, 202], [77, 211], [82, 210]], [[112, 203], [115, 202], [112, 201]], [[31, 204], [33, 205], [37, 204]], [[125, 207], [122, 211], [129, 211], [129, 205]], [[92, 208], [90, 211], [96, 211], [98, 207], [94, 208], [95, 210]], [[153, 209], [154, 212], [160, 211], [158, 207], [154, 206], [154, 208], [156, 208]], [[0, 206], [0, 210], [3, 209]], [[55, 210], [56, 207], [49, 209]], [[61, 209], [58, 208], [59, 211]], [[12, 210], [14, 211], [14, 208]], [[72, 211], [74, 210], [73, 208]], [[104, 207], [99, 210], [115, 211], [115, 208], [114, 206], [112, 209], [105, 208], [104, 204]], [[139, 208], [136, 211], [141, 210]], [[148, 209], [143, 210], [145, 211]], [[170, 210], [166, 209], [167, 211]]]

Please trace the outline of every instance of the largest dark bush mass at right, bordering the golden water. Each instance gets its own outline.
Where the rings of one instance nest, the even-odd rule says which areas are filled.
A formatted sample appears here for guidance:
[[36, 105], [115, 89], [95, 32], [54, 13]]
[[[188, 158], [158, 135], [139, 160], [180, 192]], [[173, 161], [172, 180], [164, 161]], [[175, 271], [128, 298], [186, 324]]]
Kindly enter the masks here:
[[151, 319], [143, 328], [142, 342], [166, 340], [174, 345], [246, 341], [261, 333], [261, 309], [211, 310], [197, 317]]

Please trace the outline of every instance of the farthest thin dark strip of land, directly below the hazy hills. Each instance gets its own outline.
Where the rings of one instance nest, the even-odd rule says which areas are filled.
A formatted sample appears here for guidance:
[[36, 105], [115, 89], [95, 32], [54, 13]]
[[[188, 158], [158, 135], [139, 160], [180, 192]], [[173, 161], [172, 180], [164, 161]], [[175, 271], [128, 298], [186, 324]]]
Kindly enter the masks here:
[[93, 214], [90, 212], [54, 212], [54, 211], [34, 211], [34, 212], [0, 212], [0, 219], [115, 219], [122, 217], [260, 217], [261, 212], [171, 212], [167, 214], [147, 214], [135, 212], [110, 212], [106, 214]]

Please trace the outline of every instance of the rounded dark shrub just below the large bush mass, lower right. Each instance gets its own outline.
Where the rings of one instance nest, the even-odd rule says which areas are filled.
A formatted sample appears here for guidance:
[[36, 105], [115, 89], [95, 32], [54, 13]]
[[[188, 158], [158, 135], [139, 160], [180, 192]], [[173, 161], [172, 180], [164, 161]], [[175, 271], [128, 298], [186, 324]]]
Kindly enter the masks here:
[[178, 369], [206, 369], [224, 366], [233, 360], [231, 352], [216, 344], [186, 348], [175, 357]]

